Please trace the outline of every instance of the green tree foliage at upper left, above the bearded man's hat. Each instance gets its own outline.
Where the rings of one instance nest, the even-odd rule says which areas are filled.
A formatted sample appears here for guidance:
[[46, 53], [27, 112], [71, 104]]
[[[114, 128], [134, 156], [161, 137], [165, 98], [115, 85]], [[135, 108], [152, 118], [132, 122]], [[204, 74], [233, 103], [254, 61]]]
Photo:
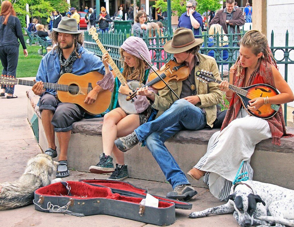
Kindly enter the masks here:
[[[67, 12], [69, 8], [69, 4], [67, 4], [66, 0], [11, 0], [11, 3], [22, 26], [26, 26], [26, 3], [29, 4], [30, 18], [36, 17], [44, 19], [42, 22], [46, 21], [50, 12], [54, 10]], [[40, 22], [41, 21], [39, 21], [39, 23]]]

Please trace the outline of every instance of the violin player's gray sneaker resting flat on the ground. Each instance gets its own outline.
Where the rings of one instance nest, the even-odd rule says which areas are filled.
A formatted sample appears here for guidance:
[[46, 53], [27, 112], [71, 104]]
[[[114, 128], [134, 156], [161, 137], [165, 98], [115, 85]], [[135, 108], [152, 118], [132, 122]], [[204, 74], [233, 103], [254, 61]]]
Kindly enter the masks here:
[[176, 188], [173, 191], [168, 192], [166, 194], [166, 197], [171, 199], [177, 199], [180, 201], [188, 201], [196, 194], [197, 191], [195, 191], [191, 184], [181, 184], [176, 186]]

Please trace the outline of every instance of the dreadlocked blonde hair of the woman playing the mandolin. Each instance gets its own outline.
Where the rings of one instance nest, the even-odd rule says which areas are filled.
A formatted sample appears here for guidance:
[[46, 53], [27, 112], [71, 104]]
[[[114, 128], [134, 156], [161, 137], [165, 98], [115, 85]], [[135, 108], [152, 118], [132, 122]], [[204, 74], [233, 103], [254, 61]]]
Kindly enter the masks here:
[[[260, 31], [251, 30], [245, 33], [242, 39], [239, 42], [240, 46], [245, 46], [248, 48], [252, 48], [252, 53], [257, 56], [260, 52], [262, 52], [262, 56], [260, 59], [264, 59], [269, 64], [272, 64], [277, 68], [277, 63], [273, 57], [272, 52], [270, 51], [270, 47], [268, 46], [268, 40], [266, 36], [262, 34]], [[231, 71], [232, 70], [232, 71]], [[238, 56], [236, 63], [231, 68], [230, 72], [234, 72], [237, 70], [236, 76], [240, 76], [243, 70], [243, 66], [240, 62], [240, 56]]]

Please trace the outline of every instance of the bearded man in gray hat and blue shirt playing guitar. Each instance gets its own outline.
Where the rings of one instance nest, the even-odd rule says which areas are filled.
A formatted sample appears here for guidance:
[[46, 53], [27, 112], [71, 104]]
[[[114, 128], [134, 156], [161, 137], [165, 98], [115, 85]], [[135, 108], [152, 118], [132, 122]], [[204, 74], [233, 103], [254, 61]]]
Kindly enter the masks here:
[[[76, 20], [62, 17], [57, 28], [51, 33], [52, 42], [55, 46], [41, 60], [36, 76], [36, 84], [32, 87], [34, 94], [41, 96], [39, 111], [41, 112], [42, 124], [48, 141], [46, 154], [52, 158], [57, 157], [55, 145], [55, 132], [58, 138], [60, 154], [56, 177], [69, 176], [67, 167], [67, 149], [71, 137], [72, 124], [83, 118], [84, 112], [71, 103], [61, 103], [56, 99], [56, 91], [44, 89], [44, 83], [56, 83], [64, 73], [83, 75], [91, 71], [105, 74], [105, 68], [98, 56], [84, 49], [81, 44], [82, 31], [78, 30]], [[97, 79], [98, 80], [98, 79]], [[100, 86], [94, 87], [86, 96], [85, 103], [92, 104], [99, 93]]]

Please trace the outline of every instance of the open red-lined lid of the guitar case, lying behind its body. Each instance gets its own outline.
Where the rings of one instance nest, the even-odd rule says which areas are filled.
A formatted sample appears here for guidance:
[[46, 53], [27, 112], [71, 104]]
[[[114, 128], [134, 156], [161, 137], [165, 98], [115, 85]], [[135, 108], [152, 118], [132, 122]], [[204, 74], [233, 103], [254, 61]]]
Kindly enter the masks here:
[[[113, 188], [113, 187], [109, 186], [109, 188], [111, 189], [111, 191], [113, 193], [118, 193], [118, 194], [121, 194], [121, 195], [124, 195], [124, 196], [135, 196], [135, 197], [139, 197], [139, 198], [146, 198], [147, 191], [144, 191], [144, 193], [136, 193], [136, 192], [132, 192], [132, 191], [126, 191], [126, 190], [119, 189], [119, 184], [120, 183], [128, 184], [129, 186], [131, 186], [133, 188], [138, 188], [138, 187], [134, 186], [133, 184], [131, 184], [129, 182], [114, 181], [114, 180], [96, 180], [96, 179], [93, 179], [93, 180], [87, 179], [87, 180], [79, 180], [79, 181], [87, 183], [87, 184], [92, 185], [92, 186], [96, 186], [96, 187], [107, 187], [107, 184], [105, 184], [107, 182], [111, 183], [112, 185], [113, 185], [113, 183], [117, 183], [118, 186], [116, 188]], [[99, 183], [103, 183], [103, 185], [99, 185]], [[142, 188], [138, 188], [138, 189], [142, 190]], [[178, 200], [175, 200], [175, 199], [170, 199], [170, 198], [157, 196], [157, 195], [153, 195], [153, 194], [151, 194], [151, 195], [154, 196], [155, 198], [159, 199], [159, 201], [175, 203], [176, 209], [184, 209], [184, 210], [192, 209], [192, 204], [191, 203], [178, 201]]]

